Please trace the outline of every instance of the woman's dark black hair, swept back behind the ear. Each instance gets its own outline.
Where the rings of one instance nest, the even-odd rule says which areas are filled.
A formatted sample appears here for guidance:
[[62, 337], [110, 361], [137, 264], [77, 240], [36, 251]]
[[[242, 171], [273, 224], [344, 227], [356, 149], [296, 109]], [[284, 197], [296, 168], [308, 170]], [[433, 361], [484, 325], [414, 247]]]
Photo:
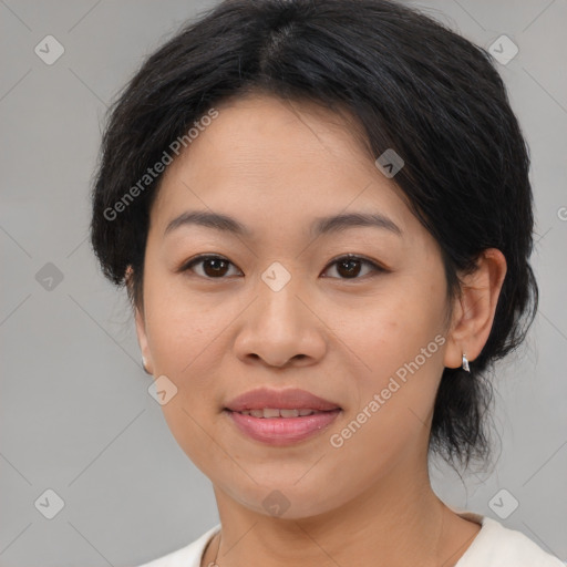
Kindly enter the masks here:
[[92, 189], [94, 252], [133, 306], [162, 175], [116, 218], [105, 212], [207, 110], [247, 92], [347, 110], [373, 158], [395, 148], [394, 181], [441, 247], [450, 298], [484, 249], [504, 254], [489, 337], [470, 374], [444, 369], [429, 444], [452, 465], [485, 460], [488, 370], [524, 340], [538, 302], [529, 153], [491, 55], [386, 0], [226, 0], [184, 24], [110, 109]]

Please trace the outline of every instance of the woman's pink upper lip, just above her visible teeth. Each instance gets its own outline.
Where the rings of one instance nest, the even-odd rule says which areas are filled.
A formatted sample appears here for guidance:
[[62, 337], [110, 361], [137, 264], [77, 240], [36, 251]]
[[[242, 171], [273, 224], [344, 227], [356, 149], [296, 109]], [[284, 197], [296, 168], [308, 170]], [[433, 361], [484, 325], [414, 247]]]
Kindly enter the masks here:
[[[287, 390], [258, 388], [238, 395], [226, 404], [225, 410], [241, 412], [246, 410], [264, 410], [266, 408], [277, 408], [279, 410], [311, 409], [319, 412], [341, 409], [337, 403], [298, 388]], [[293, 420], [295, 417], [286, 419]]]

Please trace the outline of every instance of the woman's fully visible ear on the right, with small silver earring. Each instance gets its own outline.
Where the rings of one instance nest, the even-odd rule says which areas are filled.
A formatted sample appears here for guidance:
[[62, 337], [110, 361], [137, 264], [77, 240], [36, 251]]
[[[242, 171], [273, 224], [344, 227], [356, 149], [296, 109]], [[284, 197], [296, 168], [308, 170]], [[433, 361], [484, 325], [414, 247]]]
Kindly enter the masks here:
[[471, 361], [483, 350], [491, 334], [505, 276], [506, 258], [497, 248], [483, 250], [476, 261], [476, 270], [460, 276], [461, 293], [453, 303], [445, 367], [460, 368], [463, 353]]

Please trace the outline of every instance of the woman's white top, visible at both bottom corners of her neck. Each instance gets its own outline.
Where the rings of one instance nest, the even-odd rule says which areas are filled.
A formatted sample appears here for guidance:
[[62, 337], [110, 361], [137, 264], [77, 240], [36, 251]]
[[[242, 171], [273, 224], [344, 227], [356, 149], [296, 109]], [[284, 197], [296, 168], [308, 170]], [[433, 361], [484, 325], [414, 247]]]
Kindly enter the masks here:
[[[565, 567], [567, 565], [544, 551], [522, 532], [504, 527], [488, 516], [467, 511], [454, 512], [482, 526], [455, 567]], [[138, 567], [200, 567], [205, 547], [219, 529], [220, 524], [217, 524], [188, 546]]]

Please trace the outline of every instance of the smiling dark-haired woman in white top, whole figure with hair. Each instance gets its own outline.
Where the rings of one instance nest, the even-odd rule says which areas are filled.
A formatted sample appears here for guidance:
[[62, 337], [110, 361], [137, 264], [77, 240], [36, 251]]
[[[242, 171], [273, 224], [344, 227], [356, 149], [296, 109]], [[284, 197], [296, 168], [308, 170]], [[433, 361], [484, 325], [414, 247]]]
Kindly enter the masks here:
[[113, 107], [92, 243], [220, 524], [146, 567], [559, 566], [446, 506], [537, 307], [529, 159], [480, 48], [382, 0], [233, 0]]

